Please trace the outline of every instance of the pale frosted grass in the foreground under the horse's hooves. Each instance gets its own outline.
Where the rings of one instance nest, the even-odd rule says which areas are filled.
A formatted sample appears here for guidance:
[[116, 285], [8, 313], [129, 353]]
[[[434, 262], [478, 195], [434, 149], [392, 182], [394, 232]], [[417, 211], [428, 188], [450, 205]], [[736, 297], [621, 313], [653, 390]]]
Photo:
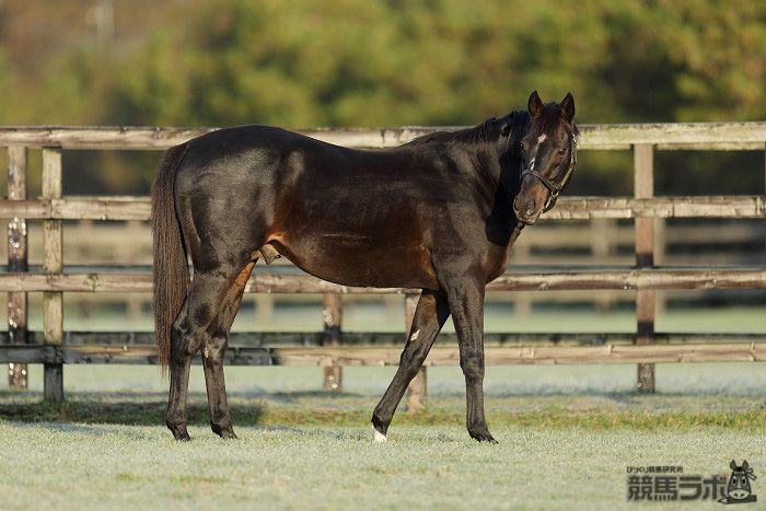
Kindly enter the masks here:
[[[367, 428], [241, 427], [240, 440], [230, 442], [194, 428], [195, 441], [175, 443], [158, 427], [3, 422], [1, 506], [632, 509], [627, 465], [681, 464], [706, 476], [726, 473], [734, 457], [746, 457], [756, 472], [766, 465], [763, 429], [495, 432], [500, 444], [479, 445], [455, 426], [407, 426], [374, 444]], [[677, 509], [692, 506], [698, 503]]]

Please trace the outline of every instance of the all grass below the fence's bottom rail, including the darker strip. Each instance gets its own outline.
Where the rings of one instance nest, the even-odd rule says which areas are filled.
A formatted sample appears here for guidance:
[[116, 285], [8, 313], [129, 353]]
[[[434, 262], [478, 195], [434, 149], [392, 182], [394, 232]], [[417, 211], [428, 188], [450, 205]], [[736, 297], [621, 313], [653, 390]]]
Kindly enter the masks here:
[[155, 368], [68, 367], [61, 406], [42, 403], [35, 368], [32, 391], [0, 391], [0, 508], [635, 509], [627, 466], [766, 472], [758, 364], [659, 365], [650, 396], [631, 364], [489, 368], [498, 445], [465, 432], [456, 368], [431, 368], [428, 411], [399, 410], [385, 444], [369, 417], [392, 368], [347, 368], [343, 394], [318, 390], [318, 369], [230, 368], [230, 442], [207, 426], [198, 369], [190, 443], [162, 426]]

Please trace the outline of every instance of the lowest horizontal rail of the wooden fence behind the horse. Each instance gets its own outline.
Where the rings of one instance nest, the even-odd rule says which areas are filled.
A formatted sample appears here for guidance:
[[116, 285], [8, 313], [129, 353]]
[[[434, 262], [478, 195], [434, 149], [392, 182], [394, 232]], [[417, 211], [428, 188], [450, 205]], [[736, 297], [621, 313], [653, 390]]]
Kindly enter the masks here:
[[[604, 346], [488, 346], [489, 365], [524, 363], [637, 362], [763, 362], [766, 342], [701, 345]], [[348, 367], [397, 365], [402, 347], [260, 347], [232, 346], [225, 363], [232, 365]], [[11, 346], [0, 347], [0, 362], [19, 363], [156, 363], [153, 346]], [[425, 365], [457, 365], [457, 347], [434, 346]], [[196, 363], [201, 363], [198, 357]]]

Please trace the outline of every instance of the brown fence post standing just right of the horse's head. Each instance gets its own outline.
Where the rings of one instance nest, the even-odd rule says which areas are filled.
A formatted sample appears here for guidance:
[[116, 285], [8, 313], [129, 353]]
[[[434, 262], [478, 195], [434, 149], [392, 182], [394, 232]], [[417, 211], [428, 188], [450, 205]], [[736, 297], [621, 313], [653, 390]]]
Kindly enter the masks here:
[[[654, 154], [649, 143], [634, 146], [634, 172], [636, 198], [651, 198], [654, 195]], [[636, 219], [636, 267], [650, 268], [654, 265], [654, 219]], [[636, 344], [654, 342], [654, 291], [636, 291]], [[639, 363], [637, 371], [639, 392], [654, 392], [654, 364]]]

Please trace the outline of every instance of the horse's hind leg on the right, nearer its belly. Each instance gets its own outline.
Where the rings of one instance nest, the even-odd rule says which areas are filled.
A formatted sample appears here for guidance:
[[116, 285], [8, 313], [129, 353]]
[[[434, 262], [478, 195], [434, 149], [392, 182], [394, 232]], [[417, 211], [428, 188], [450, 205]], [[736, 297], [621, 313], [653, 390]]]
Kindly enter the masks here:
[[233, 439], [236, 435], [234, 434], [227, 403], [223, 357], [229, 345], [229, 329], [240, 310], [242, 294], [255, 263], [255, 259], [247, 263], [233, 281], [229, 281], [219, 312], [210, 323], [207, 328], [207, 335], [202, 339], [202, 367], [205, 369], [208, 405], [210, 406], [210, 428], [216, 434], [224, 439]]

